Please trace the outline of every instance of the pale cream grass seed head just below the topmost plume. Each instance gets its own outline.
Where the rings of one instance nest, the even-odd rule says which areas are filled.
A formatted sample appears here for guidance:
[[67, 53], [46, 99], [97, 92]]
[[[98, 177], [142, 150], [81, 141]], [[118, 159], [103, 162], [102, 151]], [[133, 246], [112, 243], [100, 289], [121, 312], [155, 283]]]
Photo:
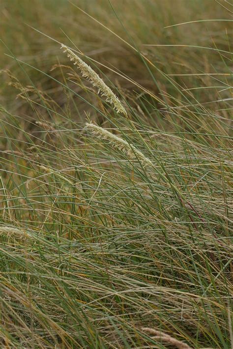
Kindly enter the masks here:
[[146, 158], [145, 155], [140, 152], [140, 150], [135, 148], [132, 144], [129, 144], [126, 140], [94, 124], [86, 123], [86, 127], [98, 138], [109, 141], [114, 146], [114, 148], [121, 150], [130, 159], [140, 160], [143, 165], [153, 166], [150, 159]]

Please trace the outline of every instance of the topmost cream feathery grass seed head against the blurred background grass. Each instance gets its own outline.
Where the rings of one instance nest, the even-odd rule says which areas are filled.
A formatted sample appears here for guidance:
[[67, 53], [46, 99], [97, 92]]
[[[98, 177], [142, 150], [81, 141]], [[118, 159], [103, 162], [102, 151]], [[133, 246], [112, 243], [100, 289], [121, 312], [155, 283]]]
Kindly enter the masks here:
[[67, 46], [61, 45], [61, 48], [64, 49], [64, 52], [67, 54], [67, 57], [71, 62], [74, 62], [74, 65], [77, 65], [82, 72], [82, 76], [87, 78], [91, 84], [98, 88], [98, 94], [106, 97], [106, 101], [111, 103], [116, 109], [117, 113], [123, 113], [127, 115], [125, 108], [121, 104], [119, 98], [113, 93], [113, 91], [105, 84], [101, 77], [81, 58], [79, 58], [72, 50]]

